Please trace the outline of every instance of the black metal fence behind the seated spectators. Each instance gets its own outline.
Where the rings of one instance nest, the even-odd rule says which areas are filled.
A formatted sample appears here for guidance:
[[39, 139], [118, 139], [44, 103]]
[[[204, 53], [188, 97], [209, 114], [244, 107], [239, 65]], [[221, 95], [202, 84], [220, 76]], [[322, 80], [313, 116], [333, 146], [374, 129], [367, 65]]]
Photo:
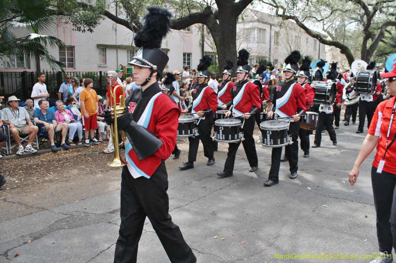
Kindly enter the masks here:
[[[65, 75], [71, 77], [92, 78], [95, 91], [104, 96], [107, 92], [106, 72], [45, 72], [47, 90], [50, 99], [58, 98], [60, 85], [65, 82]], [[33, 86], [36, 82], [38, 72], [0, 72], [0, 96], [4, 96], [6, 102], [9, 96], [15, 95], [21, 101], [30, 99]]]

